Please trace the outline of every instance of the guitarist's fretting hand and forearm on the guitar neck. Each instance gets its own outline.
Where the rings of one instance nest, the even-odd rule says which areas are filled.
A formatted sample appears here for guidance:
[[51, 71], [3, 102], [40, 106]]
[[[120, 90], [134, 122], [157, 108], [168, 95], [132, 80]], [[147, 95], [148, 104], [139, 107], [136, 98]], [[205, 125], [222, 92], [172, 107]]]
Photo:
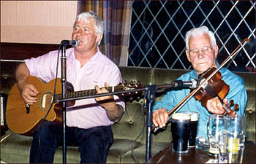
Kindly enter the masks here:
[[[105, 87], [110, 87], [105, 82]], [[97, 94], [99, 93], [109, 93], [105, 88], [99, 88], [97, 85], [95, 86], [95, 90], [97, 90]], [[116, 104], [114, 101], [113, 95], [105, 95], [101, 97], [95, 98], [95, 100], [106, 110], [108, 118], [113, 122], [118, 122], [121, 119], [122, 114], [124, 113], [124, 109], [122, 106]]]

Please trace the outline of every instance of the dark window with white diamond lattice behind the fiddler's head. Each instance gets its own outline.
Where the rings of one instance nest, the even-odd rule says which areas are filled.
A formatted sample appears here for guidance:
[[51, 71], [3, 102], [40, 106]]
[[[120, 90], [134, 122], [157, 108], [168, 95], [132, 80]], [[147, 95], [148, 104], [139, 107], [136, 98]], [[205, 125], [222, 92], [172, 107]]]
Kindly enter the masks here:
[[255, 1], [134, 1], [128, 66], [192, 69], [184, 36], [198, 26], [214, 32], [219, 63], [249, 38], [225, 67], [255, 68]]

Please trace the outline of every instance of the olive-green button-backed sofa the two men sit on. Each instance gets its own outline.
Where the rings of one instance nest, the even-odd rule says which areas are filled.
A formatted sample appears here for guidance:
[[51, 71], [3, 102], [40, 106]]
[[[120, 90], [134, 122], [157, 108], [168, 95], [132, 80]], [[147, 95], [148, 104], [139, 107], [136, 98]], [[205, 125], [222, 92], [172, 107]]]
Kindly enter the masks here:
[[[1, 82], [7, 82], [1, 86], [1, 93], [8, 94], [10, 87], [14, 84], [13, 70], [18, 63], [1, 62]], [[12, 69], [10, 69], [12, 68]], [[127, 82], [140, 82], [141, 85], [157, 84], [163, 85], [172, 82], [184, 70], [149, 69], [138, 67], [119, 66], [123, 80]], [[255, 74], [236, 73], [244, 79], [248, 94], [246, 106], [246, 122], [248, 137], [246, 140], [255, 142]], [[3, 84], [3, 83], [2, 83]], [[156, 99], [162, 98], [165, 92], [156, 93]], [[146, 127], [143, 128], [143, 120], [146, 120], [146, 111], [141, 109], [143, 98], [138, 101], [126, 101], [126, 112], [121, 120], [112, 126], [114, 142], [110, 148], [107, 163], [140, 163], [146, 161]], [[146, 124], [146, 123], [145, 123]], [[140, 133], [142, 133], [140, 135]], [[10, 131], [10, 135], [1, 141], [1, 160], [7, 163], [29, 163], [29, 149], [32, 138], [22, 136]], [[140, 137], [138, 137], [140, 135]], [[3, 138], [4, 136], [1, 136]], [[138, 138], [136, 141], [135, 139]], [[170, 124], [166, 130], [151, 135], [151, 156], [164, 149], [172, 141]], [[131, 147], [134, 149], [131, 150]], [[133, 156], [132, 155], [133, 152]], [[62, 148], [56, 150], [54, 163], [62, 163]], [[80, 153], [77, 147], [67, 147], [67, 163], [80, 163]]]

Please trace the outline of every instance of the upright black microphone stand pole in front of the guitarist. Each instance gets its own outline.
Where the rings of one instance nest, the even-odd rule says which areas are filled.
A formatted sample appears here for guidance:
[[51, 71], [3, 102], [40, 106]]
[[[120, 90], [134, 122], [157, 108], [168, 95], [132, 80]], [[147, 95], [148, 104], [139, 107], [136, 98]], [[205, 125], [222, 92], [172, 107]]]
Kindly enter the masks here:
[[[66, 98], [67, 91], [67, 56], [66, 44], [61, 44], [61, 89], [62, 98]], [[62, 163], [67, 163], [67, 146], [66, 146], [66, 101], [62, 102], [62, 126], [63, 126], [63, 147], [62, 147]]]

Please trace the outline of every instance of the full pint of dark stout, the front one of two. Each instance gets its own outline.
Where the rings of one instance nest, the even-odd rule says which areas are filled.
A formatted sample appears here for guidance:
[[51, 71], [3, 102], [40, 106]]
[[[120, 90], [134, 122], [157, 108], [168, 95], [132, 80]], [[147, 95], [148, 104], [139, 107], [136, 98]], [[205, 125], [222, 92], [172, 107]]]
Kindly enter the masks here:
[[190, 114], [174, 113], [171, 116], [173, 152], [188, 152]]

